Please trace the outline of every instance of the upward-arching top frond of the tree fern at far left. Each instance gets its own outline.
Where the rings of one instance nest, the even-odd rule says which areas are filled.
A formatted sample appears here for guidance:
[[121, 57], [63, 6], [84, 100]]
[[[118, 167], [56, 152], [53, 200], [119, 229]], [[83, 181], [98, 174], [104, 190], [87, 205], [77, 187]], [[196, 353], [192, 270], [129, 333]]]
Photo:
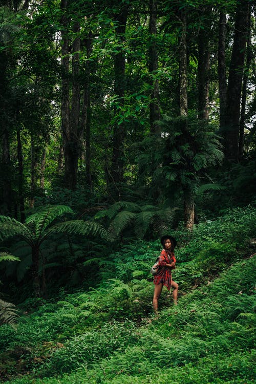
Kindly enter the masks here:
[[56, 218], [73, 213], [73, 210], [67, 205], [49, 205], [29, 216], [26, 223], [35, 227], [35, 236], [39, 237]]

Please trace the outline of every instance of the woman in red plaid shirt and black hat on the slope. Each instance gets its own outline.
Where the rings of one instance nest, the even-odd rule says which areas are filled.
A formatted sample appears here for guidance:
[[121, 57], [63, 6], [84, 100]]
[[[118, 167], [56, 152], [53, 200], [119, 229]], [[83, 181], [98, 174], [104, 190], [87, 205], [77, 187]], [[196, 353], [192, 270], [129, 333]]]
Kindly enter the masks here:
[[177, 241], [172, 237], [165, 235], [161, 238], [163, 249], [159, 258], [159, 272], [154, 277], [155, 292], [153, 297], [153, 308], [155, 313], [158, 313], [158, 299], [161, 295], [163, 286], [165, 285], [170, 290], [173, 287], [174, 304], [177, 304], [179, 286], [172, 279], [172, 269], [175, 269], [176, 259], [174, 256], [174, 248]]

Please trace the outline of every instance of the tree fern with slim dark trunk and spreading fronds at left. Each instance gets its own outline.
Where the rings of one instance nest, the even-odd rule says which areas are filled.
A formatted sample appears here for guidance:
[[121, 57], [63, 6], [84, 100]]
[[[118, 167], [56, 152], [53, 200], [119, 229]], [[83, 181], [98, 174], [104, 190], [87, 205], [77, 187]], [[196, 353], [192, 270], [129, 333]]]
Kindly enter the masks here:
[[104, 228], [94, 222], [69, 220], [55, 223], [63, 215], [69, 214], [74, 214], [71, 208], [65, 205], [56, 205], [41, 208], [29, 216], [24, 224], [10, 217], [0, 216], [0, 240], [20, 237], [31, 248], [33, 291], [37, 297], [44, 293], [41, 292], [39, 279], [40, 247], [49, 236], [54, 233], [92, 234], [102, 238], [106, 236]]

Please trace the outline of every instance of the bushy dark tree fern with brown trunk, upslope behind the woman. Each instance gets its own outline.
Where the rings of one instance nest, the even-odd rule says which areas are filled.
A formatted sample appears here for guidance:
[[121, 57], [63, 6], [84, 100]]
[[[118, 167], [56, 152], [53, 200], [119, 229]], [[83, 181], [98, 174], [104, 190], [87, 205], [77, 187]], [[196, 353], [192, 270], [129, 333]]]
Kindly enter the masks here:
[[198, 187], [203, 180], [207, 180], [205, 172], [211, 166], [221, 164], [221, 144], [210, 125], [195, 117], [181, 116], [174, 119], [165, 116], [161, 120], [161, 127], [165, 134], [161, 148], [165, 194], [168, 197], [168, 190], [181, 191], [184, 223], [191, 230], [195, 220]]

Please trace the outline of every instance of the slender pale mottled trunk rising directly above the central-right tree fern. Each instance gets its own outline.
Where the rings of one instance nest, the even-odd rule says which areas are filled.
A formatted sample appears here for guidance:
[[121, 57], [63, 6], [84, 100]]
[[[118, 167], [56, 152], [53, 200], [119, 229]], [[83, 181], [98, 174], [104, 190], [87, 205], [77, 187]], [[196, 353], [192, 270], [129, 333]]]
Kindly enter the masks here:
[[181, 32], [179, 36], [179, 100], [180, 116], [187, 116], [187, 39], [186, 11], [180, 11]]

